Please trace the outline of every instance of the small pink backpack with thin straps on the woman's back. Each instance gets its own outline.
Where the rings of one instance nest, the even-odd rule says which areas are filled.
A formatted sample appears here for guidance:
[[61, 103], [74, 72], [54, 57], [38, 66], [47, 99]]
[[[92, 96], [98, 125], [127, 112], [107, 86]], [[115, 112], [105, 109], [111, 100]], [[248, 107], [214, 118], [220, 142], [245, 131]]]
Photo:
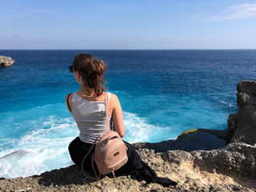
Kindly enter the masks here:
[[[107, 93], [105, 94], [105, 106], [107, 124], [106, 134], [103, 134], [96, 138], [93, 146], [91, 146], [89, 152], [86, 154], [87, 156], [90, 153], [90, 151], [94, 148], [95, 143], [99, 139], [98, 143], [95, 146], [95, 151], [91, 159], [91, 164], [96, 178], [89, 177], [83, 169], [83, 163], [86, 159], [86, 156], [82, 160], [82, 174], [84, 174], [86, 178], [96, 180], [100, 179], [101, 174], [110, 174], [112, 172], [114, 175], [114, 170], [118, 170], [128, 161], [128, 157], [126, 154], [126, 144], [122, 141], [122, 138], [119, 136], [118, 132], [110, 130]], [[96, 163], [98, 168], [98, 175], [94, 168], [94, 162]]]

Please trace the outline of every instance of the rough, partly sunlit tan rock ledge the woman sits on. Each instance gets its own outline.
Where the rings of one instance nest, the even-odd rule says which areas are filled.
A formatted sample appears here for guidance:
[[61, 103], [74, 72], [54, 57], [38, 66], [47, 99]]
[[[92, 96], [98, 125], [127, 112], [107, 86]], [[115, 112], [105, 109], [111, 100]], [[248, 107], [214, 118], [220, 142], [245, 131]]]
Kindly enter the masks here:
[[137, 182], [130, 176], [83, 178], [78, 166], [52, 170], [29, 178], [0, 180], [0, 191], [256, 191], [256, 145], [230, 143], [218, 150], [154, 150], [138, 148], [142, 160], [159, 177], [178, 182], [168, 188]]

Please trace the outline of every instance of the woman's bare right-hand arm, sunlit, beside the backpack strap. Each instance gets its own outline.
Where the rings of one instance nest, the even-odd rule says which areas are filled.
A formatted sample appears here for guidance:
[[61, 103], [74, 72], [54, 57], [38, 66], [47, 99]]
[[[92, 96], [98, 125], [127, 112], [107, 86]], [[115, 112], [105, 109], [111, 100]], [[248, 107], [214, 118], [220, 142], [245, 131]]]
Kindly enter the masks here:
[[122, 138], [125, 135], [125, 126], [122, 119], [122, 107], [115, 94], [111, 94], [110, 105], [113, 106], [112, 119], [114, 123], [114, 130], [117, 131]]

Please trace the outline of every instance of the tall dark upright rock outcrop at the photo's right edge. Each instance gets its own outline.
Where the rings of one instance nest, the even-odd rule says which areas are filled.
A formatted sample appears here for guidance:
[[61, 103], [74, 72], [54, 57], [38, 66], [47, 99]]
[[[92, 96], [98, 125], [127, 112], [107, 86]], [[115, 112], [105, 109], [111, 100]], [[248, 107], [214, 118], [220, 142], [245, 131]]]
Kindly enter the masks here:
[[[238, 114], [231, 114], [228, 129], [231, 142], [256, 143], [256, 80], [238, 82]], [[237, 116], [237, 117], [236, 117]]]

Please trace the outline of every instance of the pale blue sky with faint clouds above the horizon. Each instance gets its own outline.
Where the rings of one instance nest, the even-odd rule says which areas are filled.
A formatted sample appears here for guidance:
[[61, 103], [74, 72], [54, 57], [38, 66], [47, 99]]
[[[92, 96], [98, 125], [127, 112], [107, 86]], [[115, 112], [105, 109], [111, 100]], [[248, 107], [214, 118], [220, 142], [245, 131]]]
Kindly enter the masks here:
[[1, 50], [256, 49], [256, 1], [0, 0]]

